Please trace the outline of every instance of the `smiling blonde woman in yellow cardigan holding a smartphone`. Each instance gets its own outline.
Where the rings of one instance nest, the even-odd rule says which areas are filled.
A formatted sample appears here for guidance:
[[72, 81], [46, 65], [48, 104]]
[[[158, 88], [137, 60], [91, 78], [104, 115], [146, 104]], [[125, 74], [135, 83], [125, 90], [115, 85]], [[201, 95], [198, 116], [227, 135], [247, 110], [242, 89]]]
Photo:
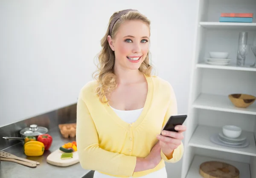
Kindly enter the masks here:
[[94, 178], [167, 178], [165, 162], [182, 158], [186, 126], [160, 135], [177, 114], [177, 103], [171, 85], [151, 76], [149, 39], [150, 21], [143, 14], [114, 13], [101, 41], [96, 80], [79, 93], [79, 161], [96, 170]]

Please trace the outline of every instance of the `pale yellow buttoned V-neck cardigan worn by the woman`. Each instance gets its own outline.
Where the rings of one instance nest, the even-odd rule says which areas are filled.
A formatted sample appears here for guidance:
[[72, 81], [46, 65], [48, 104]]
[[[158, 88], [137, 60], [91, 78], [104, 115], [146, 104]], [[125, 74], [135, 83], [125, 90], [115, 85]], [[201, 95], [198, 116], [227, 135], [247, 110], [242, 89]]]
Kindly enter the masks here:
[[183, 144], [174, 150], [171, 159], [161, 152], [162, 161], [154, 168], [134, 172], [136, 157], [146, 157], [157, 134], [171, 115], [177, 114], [172, 86], [156, 76], [145, 76], [148, 94], [137, 121], [122, 121], [108, 104], [95, 94], [97, 82], [88, 82], [81, 89], [77, 103], [76, 142], [81, 167], [116, 177], [140, 177], [160, 170], [165, 161], [175, 163], [182, 158]]

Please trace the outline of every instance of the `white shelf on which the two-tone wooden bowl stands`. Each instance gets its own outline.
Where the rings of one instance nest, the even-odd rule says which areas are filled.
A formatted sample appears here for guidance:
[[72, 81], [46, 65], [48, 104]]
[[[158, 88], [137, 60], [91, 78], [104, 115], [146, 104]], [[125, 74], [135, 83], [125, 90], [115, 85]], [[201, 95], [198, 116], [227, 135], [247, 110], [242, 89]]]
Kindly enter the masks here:
[[256, 115], [255, 103], [247, 108], [239, 108], [232, 104], [228, 96], [214, 94], [201, 93], [192, 106], [199, 109]]

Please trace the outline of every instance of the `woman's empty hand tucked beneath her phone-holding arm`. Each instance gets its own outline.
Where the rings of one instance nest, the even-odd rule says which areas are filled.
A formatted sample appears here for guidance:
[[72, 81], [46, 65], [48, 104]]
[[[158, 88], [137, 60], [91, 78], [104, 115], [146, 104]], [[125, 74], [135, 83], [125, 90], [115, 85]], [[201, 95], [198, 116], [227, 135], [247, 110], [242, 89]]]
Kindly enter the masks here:
[[162, 160], [161, 147], [160, 147], [159, 141], [157, 141], [157, 143], [151, 149], [148, 156], [145, 157], [145, 161], [147, 161], [147, 163], [150, 167], [149, 169], [153, 169], [154, 167], [157, 166], [157, 164], [160, 163], [161, 160]]

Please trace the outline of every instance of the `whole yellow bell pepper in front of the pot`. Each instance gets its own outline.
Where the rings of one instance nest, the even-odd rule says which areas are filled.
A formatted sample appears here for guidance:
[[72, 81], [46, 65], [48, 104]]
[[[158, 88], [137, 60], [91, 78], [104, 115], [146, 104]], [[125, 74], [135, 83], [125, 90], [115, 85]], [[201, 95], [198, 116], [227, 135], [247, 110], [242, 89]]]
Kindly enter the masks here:
[[28, 141], [24, 144], [24, 153], [27, 156], [41, 156], [44, 154], [44, 144], [40, 141]]

